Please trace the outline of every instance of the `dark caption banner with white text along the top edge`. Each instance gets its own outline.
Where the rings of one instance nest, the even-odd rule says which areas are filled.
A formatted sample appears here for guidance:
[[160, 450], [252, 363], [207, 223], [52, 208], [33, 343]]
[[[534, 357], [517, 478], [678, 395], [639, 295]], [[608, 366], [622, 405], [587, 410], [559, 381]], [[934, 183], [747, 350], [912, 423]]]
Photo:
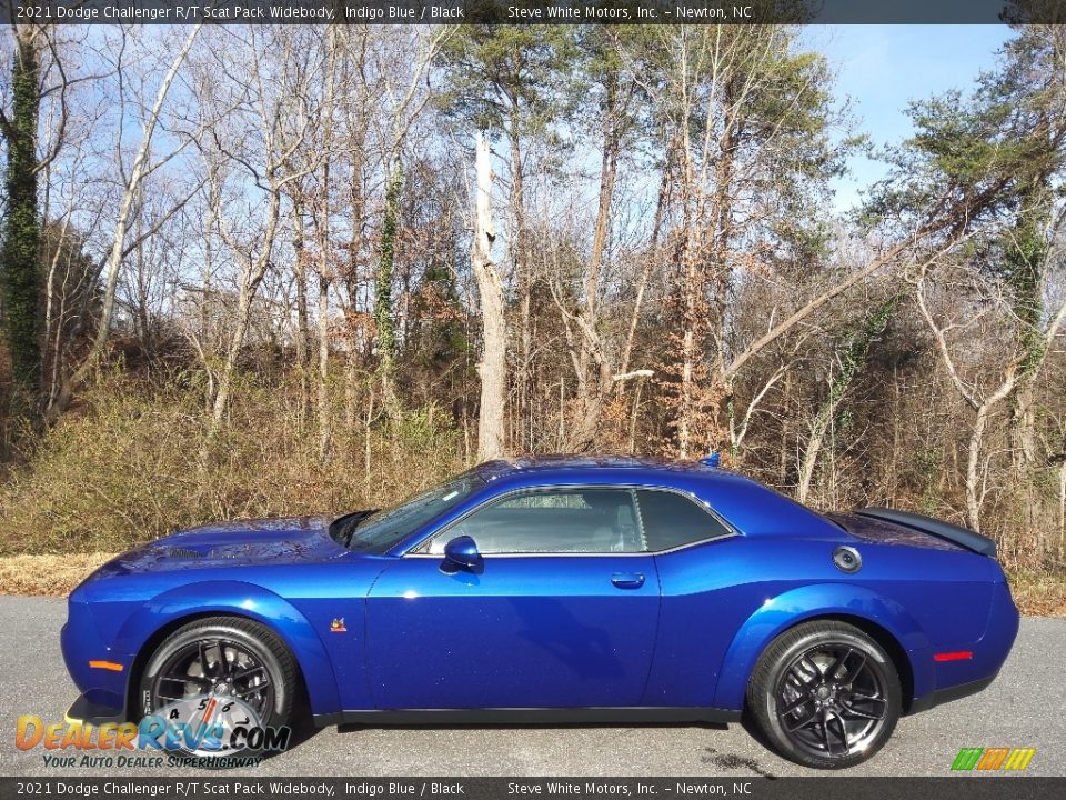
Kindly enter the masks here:
[[28, 24], [1033, 24], [1066, 0], [0, 0]]

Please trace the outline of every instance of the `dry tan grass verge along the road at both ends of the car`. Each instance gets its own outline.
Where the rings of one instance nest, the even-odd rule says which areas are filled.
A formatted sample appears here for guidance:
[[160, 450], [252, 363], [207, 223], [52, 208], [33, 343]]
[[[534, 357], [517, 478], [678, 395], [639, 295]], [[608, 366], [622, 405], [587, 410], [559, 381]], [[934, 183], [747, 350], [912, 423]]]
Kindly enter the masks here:
[[[0, 557], [0, 594], [64, 597], [114, 553]], [[1010, 591], [1022, 613], [1066, 617], [1066, 579], [1034, 572], [1012, 572]]]

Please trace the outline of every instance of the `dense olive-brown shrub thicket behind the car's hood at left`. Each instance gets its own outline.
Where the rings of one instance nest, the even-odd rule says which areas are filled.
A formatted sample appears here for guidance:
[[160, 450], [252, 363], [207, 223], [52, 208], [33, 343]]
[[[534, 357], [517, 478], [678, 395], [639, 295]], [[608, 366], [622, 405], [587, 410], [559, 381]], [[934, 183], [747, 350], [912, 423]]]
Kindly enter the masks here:
[[[102, 378], [0, 487], [0, 554], [117, 551], [220, 519], [378, 508], [463, 467], [433, 407], [341, 422], [321, 461], [296, 391], [243, 384], [209, 447], [203, 392], [188, 376]], [[340, 400], [331, 410], [344, 419]]]

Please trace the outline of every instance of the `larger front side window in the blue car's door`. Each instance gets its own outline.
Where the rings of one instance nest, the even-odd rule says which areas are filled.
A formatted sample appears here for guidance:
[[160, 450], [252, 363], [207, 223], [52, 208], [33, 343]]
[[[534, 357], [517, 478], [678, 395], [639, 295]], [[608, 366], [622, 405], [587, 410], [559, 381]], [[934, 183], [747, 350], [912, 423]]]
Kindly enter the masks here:
[[438, 536], [429, 548], [442, 553], [469, 536], [486, 556], [599, 553], [644, 550], [633, 497], [620, 489], [567, 489], [515, 494], [475, 511]]

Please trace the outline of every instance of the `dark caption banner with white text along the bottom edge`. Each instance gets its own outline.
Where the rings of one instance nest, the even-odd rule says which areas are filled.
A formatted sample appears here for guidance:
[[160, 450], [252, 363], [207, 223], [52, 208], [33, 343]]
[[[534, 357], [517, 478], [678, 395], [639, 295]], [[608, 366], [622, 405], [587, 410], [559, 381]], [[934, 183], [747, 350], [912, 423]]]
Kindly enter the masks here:
[[505, 798], [701, 798], [862, 800], [921, 797], [993, 800], [1066, 797], [1066, 777], [945, 778], [0, 778], [16, 798], [345, 798], [501, 800]]

